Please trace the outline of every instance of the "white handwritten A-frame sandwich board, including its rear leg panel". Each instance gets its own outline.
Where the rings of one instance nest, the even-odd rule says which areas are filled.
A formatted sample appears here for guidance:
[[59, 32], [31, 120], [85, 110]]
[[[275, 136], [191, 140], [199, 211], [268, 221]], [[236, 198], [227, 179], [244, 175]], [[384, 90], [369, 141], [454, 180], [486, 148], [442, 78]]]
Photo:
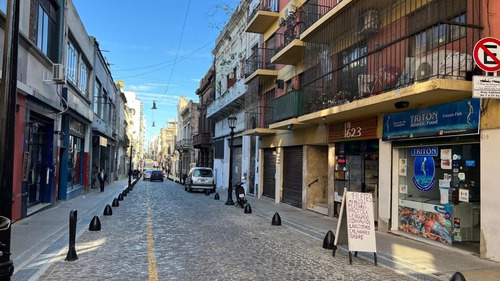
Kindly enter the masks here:
[[334, 244], [346, 242], [351, 252], [377, 252], [371, 193], [344, 194]]

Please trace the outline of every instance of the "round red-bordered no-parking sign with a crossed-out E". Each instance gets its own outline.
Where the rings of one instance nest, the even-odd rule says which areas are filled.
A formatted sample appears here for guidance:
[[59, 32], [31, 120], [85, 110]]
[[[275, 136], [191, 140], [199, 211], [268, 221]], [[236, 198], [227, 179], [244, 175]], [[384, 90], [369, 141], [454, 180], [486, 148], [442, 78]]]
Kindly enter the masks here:
[[474, 61], [484, 71], [499, 71], [500, 40], [493, 37], [486, 37], [477, 41], [474, 46]]

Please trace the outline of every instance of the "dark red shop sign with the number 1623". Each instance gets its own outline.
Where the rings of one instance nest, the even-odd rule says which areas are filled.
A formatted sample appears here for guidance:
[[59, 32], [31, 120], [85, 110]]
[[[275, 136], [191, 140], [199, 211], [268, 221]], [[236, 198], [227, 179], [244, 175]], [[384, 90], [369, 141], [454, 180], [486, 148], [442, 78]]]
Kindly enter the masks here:
[[376, 117], [332, 123], [328, 127], [328, 142], [369, 140], [376, 138]]

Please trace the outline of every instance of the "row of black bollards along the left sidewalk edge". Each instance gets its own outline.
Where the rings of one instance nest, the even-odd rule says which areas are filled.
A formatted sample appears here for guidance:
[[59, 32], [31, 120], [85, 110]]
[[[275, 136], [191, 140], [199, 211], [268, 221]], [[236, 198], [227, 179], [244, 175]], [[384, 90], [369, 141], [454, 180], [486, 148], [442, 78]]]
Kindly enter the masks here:
[[[118, 195], [118, 198], [113, 199], [112, 203], [113, 207], [120, 206], [120, 203], [118, 201], [123, 201], [123, 197], [127, 196], [127, 194], [133, 189], [135, 183], [137, 183], [137, 181], [135, 181], [130, 186], [127, 186], [127, 188], [124, 189]], [[66, 261], [75, 261], [78, 259], [78, 255], [76, 254], [76, 223], [78, 217], [77, 215], [78, 215], [77, 210], [71, 210], [71, 212], [69, 213], [69, 246], [68, 246], [68, 253], [65, 258]], [[103, 215], [104, 216], [113, 215], [113, 209], [109, 204], [106, 205], [106, 207], [104, 208]], [[101, 221], [99, 219], [99, 216], [94, 216], [90, 221], [89, 231], [100, 231], [100, 230], [101, 230]]]

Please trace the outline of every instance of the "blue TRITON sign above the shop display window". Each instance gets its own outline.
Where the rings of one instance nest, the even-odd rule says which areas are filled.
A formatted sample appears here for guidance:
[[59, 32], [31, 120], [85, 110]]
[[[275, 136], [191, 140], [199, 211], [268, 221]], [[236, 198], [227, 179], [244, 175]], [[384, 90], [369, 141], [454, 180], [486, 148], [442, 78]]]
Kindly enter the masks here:
[[464, 99], [384, 116], [382, 140], [479, 133], [480, 100]]

